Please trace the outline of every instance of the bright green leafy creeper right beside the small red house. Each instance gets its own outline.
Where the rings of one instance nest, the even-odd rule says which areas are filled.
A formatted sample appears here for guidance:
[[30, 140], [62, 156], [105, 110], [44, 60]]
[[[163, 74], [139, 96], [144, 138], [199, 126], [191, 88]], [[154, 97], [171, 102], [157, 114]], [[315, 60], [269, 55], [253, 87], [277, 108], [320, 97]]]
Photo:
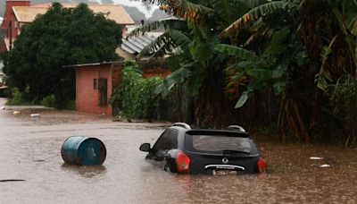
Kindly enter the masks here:
[[127, 62], [121, 72], [120, 86], [112, 93], [111, 104], [117, 115], [164, 121], [192, 121], [191, 98], [185, 98], [185, 86], [172, 89], [170, 94], [157, 94], [164, 80], [144, 78], [135, 62]]

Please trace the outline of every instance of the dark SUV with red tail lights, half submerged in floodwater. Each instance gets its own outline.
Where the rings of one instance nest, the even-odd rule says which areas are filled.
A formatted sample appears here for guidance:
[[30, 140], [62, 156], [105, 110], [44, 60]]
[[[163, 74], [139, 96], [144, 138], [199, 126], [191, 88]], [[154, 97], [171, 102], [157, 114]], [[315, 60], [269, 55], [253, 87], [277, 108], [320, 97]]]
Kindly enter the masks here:
[[266, 161], [249, 133], [238, 125], [227, 130], [191, 129], [174, 123], [156, 140], [140, 146], [147, 161], [179, 174], [257, 174], [267, 172]]

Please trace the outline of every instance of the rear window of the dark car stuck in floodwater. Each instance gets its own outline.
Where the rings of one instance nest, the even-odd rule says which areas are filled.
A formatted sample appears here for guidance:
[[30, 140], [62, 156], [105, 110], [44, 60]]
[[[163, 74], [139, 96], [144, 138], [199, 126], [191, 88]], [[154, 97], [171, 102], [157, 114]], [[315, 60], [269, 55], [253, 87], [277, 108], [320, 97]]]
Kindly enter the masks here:
[[224, 132], [187, 132], [186, 149], [193, 152], [223, 154], [224, 151], [257, 154], [256, 146], [250, 138]]

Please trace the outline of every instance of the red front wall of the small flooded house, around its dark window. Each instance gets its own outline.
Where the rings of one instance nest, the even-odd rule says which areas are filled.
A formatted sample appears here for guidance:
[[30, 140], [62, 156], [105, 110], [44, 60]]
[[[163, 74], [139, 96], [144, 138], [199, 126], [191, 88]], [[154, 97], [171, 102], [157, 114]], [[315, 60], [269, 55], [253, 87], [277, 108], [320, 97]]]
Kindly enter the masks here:
[[[100, 92], [94, 89], [94, 79], [106, 78], [108, 105], [99, 105]], [[110, 64], [76, 68], [76, 106], [79, 112], [112, 115], [109, 99], [112, 95], [112, 71]]]

